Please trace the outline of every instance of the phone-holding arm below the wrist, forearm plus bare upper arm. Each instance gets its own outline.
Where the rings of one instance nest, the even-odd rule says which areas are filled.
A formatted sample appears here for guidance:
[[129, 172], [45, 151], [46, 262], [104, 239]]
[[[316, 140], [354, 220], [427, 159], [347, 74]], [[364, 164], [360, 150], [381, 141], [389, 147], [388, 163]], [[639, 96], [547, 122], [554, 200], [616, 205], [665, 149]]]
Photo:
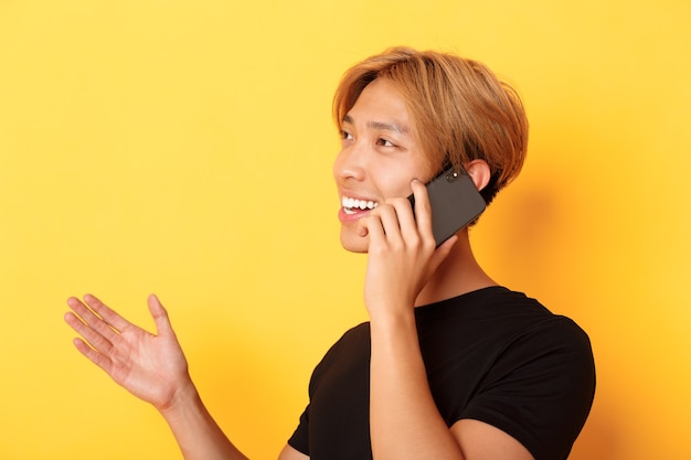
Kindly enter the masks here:
[[533, 460], [504, 431], [459, 420], [450, 429], [427, 383], [415, 318], [372, 323], [370, 422], [375, 460]]

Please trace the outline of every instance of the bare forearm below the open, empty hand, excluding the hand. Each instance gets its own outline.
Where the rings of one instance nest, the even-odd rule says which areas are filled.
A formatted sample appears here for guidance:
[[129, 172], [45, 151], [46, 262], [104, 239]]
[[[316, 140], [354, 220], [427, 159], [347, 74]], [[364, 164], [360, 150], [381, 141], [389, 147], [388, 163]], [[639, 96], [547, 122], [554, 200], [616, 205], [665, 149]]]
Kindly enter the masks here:
[[246, 460], [215, 422], [192, 386], [160, 413], [185, 460]]

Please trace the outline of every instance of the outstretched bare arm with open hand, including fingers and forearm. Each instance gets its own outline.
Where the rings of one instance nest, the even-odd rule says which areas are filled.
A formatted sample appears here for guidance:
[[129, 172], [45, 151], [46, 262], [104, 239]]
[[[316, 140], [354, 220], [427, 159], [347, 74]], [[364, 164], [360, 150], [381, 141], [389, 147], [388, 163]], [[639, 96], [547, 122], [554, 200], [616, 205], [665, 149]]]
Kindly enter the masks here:
[[125, 320], [94, 296], [67, 300], [65, 321], [82, 338], [77, 350], [118, 385], [163, 416], [187, 460], [245, 460], [202, 403], [159, 300], [149, 297], [157, 334]]

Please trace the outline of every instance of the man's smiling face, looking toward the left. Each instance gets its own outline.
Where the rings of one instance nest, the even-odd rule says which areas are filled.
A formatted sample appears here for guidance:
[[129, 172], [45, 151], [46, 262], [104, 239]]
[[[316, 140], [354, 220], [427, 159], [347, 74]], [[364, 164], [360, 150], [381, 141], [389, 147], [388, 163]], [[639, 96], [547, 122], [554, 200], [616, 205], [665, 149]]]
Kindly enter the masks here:
[[405, 103], [384, 79], [370, 83], [342, 120], [333, 176], [346, 249], [365, 253], [369, 240], [359, 236], [358, 220], [387, 199], [408, 196], [413, 179], [432, 176], [414, 129]]

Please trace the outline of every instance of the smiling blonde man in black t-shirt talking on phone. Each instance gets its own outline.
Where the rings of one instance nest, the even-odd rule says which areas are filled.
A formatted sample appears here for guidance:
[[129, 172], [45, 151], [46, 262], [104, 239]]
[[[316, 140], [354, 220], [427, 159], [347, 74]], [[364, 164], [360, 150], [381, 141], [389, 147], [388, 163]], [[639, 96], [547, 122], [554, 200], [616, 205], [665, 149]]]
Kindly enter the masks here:
[[[515, 93], [477, 62], [392, 49], [346, 73], [334, 117], [341, 244], [368, 254], [370, 321], [315, 368], [279, 459], [565, 459], [593, 402], [587, 335], [498, 286], [467, 228], [437, 248], [424, 186], [464, 167], [489, 203], [515, 178], [528, 138]], [[157, 407], [185, 459], [244, 458], [201, 402], [156, 297], [158, 335], [84, 300], [68, 300], [66, 321], [92, 346], [75, 345]]]

